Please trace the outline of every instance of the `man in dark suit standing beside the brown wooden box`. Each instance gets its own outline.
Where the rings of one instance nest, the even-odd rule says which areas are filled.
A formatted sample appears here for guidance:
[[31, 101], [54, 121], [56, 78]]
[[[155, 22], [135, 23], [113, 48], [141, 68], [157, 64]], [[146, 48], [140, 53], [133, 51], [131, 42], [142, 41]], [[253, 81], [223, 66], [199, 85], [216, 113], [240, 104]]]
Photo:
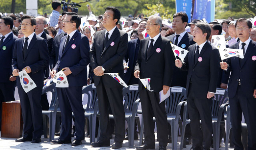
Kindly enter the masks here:
[[26, 70], [35, 82], [36, 88], [26, 93], [17, 78], [18, 93], [23, 117], [23, 136], [16, 142], [41, 142], [42, 107], [40, 105], [42, 87], [44, 84], [44, 68], [49, 64], [49, 52], [46, 40], [34, 33], [36, 19], [23, 16], [21, 30], [24, 37], [17, 39], [12, 58], [12, 74], [18, 76], [20, 70]]

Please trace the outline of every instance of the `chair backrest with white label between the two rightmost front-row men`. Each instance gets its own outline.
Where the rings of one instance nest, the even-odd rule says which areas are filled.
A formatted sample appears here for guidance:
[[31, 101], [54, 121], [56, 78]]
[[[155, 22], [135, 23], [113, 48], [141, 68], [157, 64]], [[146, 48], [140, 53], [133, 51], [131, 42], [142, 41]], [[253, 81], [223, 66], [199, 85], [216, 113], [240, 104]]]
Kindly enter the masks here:
[[220, 106], [224, 103], [229, 103], [228, 91], [222, 88], [217, 88], [216, 93], [212, 98], [212, 117], [218, 117]]

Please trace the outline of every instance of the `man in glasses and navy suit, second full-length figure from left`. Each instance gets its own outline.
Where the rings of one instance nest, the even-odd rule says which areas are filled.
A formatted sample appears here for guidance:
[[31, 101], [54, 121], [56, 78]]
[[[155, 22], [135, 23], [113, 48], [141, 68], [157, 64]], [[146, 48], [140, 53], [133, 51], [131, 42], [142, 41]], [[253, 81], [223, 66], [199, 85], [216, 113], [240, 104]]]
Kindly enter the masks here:
[[87, 70], [89, 64], [89, 40], [77, 31], [81, 18], [74, 12], [67, 12], [63, 22], [63, 31], [67, 33], [60, 41], [59, 59], [51, 77], [63, 70], [67, 76], [68, 88], [56, 88], [60, 101], [62, 125], [60, 138], [53, 140], [54, 144], [71, 143], [72, 112], [75, 117], [76, 132], [73, 146], [82, 144], [84, 140], [84, 108], [82, 104], [82, 87], [87, 85]]

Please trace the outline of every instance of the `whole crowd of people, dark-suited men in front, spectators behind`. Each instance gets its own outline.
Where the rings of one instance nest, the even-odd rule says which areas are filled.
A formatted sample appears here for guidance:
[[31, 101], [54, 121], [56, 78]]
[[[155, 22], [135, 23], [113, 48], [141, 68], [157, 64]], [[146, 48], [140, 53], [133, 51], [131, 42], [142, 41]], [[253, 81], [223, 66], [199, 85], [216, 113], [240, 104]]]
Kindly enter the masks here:
[[[185, 143], [192, 150], [210, 150], [212, 145], [212, 97], [216, 88], [228, 90], [231, 109], [232, 141], [235, 150], [243, 150], [241, 121], [248, 127], [248, 150], [256, 150], [256, 27], [252, 18], [214, 20], [194, 19], [174, 14], [173, 19], [143, 14], [121, 18], [117, 8], [107, 7], [98, 18], [90, 10], [81, 18], [74, 12], [60, 14], [60, 1], [52, 2], [52, 14], [0, 18], [0, 99], [14, 101], [15, 87], [22, 107], [23, 135], [16, 142], [41, 142], [42, 110], [49, 109], [44, 80], [63, 70], [68, 88], [56, 88], [61, 110], [61, 132], [54, 144], [82, 144], [85, 137], [82, 87], [96, 86], [100, 113], [100, 136], [92, 147], [121, 148], [125, 137], [123, 86], [104, 73], [118, 73], [129, 86], [138, 84], [144, 121], [144, 145], [137, 150], [155, 149], [153, 117], [159, 149], [172, 142], [165, 103], [159, 103], [159, 92], [170, 87], [186, 88], [190, 125], [186, 126]], [[221, 60], [211, 45], [213, 35], [224, 35], [226, 47], [243, 49], [244, 58]], [[234, 44], [228, 41], [236, 40]], [[170, 42], [188, 50], [184, 61], [172, 52]], [[19, 72], [25, 70], [36, 88], [24, 92]], [[150, 78], [150, 87], [143, 88], [139, 78]], [[72, 139], [72, 112], [76, 129]], [[114, 123], [109, 114], [114, 115]], [[1, 117], [2, 115], [0, 115]], [[200, 125], [201, 120], [201, 125]], [[0, 123], [1, 125], [1, 123]], [[114, 129], [112, 126], [115, 126]], [[136, 126], [136, 123], [135, 123]], [[110, 130], [113, 129], [113, 130]], [[136, 129], [136, 128], [135, 128]], [[138, 139], [135, 130], [134, 139]], [[221, 142], [221, 140], [220, 140]]]

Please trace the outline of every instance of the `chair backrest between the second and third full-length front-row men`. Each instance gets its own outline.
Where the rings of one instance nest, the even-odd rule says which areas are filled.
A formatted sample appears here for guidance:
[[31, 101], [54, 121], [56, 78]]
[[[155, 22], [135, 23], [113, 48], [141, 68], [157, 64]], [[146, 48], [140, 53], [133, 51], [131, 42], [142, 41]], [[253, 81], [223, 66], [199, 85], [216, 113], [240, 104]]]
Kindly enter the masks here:
[[94, 107], [97, 105], [97, 91], [94, 84], [90, 84], [88, 86], [84, 86], [82, 90], [82, 94], [86, 94], [88, 96], [86, 112], [94, 112]]

